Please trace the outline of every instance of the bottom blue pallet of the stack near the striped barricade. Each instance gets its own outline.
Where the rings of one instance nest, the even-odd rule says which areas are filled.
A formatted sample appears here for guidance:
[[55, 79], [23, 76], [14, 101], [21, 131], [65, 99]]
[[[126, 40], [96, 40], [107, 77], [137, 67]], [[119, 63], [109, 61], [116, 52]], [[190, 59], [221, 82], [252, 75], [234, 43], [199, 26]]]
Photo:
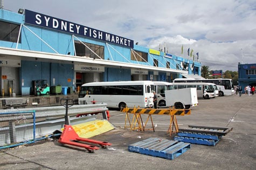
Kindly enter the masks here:
[[208, 146], [215, 146], [219, 142], [219, 140], [215, 141], [211, 139], [200, 139], [200, 138], [181, 137], [181, 136], [175, 136], [174, 140], [179, 142], [188, 142], [192, 144], [208, 145]]

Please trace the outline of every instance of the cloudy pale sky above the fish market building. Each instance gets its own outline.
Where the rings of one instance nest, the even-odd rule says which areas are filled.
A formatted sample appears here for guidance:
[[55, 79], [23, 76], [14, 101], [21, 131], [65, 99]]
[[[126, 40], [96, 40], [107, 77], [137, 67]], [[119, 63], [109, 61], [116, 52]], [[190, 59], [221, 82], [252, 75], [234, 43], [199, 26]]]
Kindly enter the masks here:
[[[0, 0], [193, 59], [209, 70], [256, 63], [256, 0]], [[183, 46], [183, 54], [182, 54]], [[195, 57], [197, 58], [197, 57]]]

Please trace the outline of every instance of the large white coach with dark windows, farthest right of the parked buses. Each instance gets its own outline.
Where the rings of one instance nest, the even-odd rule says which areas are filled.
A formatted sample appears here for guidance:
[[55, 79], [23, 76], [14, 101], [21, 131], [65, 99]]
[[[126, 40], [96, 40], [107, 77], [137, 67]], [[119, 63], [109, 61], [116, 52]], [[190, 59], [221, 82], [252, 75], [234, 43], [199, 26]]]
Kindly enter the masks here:
[[219, 96], [224, 95], [233, 95], [234, 94], [234, 85], [232, 79], [225, 79], [225, 78], [217, 78], [217, 79], [193, 79], [193, 78], [176, 78], [174, 79], [174, 83], [214, 83], [217, 86], [224, 86], [224, 89], [218, 86]]

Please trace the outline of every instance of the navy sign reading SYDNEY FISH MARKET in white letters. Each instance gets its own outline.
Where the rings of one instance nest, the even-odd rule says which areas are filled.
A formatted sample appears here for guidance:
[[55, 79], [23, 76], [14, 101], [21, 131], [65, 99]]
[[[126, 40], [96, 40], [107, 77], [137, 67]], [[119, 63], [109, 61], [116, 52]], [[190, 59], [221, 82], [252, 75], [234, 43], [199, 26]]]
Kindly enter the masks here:
[[57, 31], [67, 32], [70, 34], [76, 34], [86, 36], [88, 38], [97, 39], [101, 41], [107, 41], [115, 43], [117, 45], [133, 48], [133, 40], [123, 38], [107, 32], [100, 31], [87, 26], [72, 23], [63, 19], [47, 16], [38, 12], [25, 10], [25, 23], [32, 24], [40, 27], [50, 28]]

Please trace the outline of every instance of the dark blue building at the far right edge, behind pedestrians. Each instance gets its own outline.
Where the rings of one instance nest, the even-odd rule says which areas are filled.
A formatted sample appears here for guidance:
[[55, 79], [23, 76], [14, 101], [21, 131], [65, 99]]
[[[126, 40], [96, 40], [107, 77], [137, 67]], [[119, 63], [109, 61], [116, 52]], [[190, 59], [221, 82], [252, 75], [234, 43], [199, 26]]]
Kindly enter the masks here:
[[238, 84], [243, 88], [243, 92], [245, 86], [256, 86], [256, 63], [238, 63]]

